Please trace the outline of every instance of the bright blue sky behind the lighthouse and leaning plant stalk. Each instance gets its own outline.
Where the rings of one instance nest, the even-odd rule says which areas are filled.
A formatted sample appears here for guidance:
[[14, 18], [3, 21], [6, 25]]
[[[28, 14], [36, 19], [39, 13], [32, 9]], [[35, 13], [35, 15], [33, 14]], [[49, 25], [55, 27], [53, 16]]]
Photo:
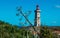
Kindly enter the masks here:
[[0, 20], [19, 25], [16, 7], [22, 6], [23, 12], [32, 11], [29, 20], [33, 23], [37, 4], [40, 6], [40, 20], [43, 25], [60, 26], [60, 0], [0, 0]]

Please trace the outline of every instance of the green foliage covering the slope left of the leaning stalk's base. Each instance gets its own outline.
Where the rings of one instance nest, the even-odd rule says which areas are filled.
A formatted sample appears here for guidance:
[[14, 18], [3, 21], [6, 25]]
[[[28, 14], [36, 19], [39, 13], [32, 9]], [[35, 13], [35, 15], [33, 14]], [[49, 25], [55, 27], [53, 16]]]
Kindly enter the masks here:
[[0, 21], [0, 38], [27, 38], [27, 34], [31, 38], [32, 34], [27, 31], [25, 28], [20, 29], [17, 26]]

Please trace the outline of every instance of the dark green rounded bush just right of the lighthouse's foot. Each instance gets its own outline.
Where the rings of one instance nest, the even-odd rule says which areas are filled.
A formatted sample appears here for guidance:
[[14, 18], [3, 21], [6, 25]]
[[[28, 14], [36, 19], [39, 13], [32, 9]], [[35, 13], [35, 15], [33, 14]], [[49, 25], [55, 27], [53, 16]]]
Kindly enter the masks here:
[[52, 34], [51, 30], [48, 29], [48, 27], [46, 27], [46, 26], [41, 27], [40, 32], [41, 32], [41, 34], [40, 34], [41, 38], [53, 38], [53, 36], [52, 36], [53, 34]]

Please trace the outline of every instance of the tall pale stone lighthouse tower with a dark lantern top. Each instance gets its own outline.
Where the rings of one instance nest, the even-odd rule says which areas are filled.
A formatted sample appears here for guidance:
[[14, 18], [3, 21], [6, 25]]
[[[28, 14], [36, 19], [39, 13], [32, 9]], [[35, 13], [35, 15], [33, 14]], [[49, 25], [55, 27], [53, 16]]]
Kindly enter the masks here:
[[34, 25], [35, 26], [40, 26], [41, 23], [40, 23], [40, 9], [39, 9], [39, 5], [36, 6], [36, 10], [34, 12], [35, 12]]

